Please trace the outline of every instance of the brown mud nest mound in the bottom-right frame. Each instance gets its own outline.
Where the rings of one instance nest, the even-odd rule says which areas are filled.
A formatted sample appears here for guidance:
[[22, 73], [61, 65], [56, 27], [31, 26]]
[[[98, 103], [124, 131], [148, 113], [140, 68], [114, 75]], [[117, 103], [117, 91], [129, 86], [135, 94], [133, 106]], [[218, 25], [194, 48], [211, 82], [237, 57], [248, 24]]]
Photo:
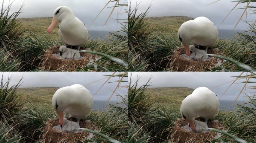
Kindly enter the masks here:
[[[205, 143], [207, 140], [212, 140], [217, 135], [216, 132], [210, 131], [207, 133], [196, 133], [193, 131], [187, 131], [182, 127], [188, 125], [188, 121], [180, 119], [176, 122], [172, 129], [171, 138], [175, 143]], [[208, 121], [209, 128], [223, 128], [222, 125], [215, 121]]]

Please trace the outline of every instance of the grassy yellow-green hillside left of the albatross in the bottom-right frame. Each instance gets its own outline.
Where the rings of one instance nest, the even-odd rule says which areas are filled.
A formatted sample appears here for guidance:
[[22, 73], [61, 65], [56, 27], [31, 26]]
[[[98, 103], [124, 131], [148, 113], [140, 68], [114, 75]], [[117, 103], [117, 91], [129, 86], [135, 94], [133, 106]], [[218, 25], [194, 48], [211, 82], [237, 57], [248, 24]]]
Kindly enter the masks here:
[[155, 104], [161, 104], [168, 107], [180, 107], [183, 99], [190, 95], [194, 89], [186, 87], [171, 88], [148, 88], [147, 92], [151, 95]]

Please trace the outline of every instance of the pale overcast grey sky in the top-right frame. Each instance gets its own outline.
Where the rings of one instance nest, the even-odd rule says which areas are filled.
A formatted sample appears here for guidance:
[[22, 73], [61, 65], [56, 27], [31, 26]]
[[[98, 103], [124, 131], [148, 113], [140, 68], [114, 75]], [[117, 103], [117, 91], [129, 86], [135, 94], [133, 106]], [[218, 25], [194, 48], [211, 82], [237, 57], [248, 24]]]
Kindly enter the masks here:
[[[237, 2], [231, 2], [231, 0], [220, 0], [216, 3], [206, 6], [216, 0], [132, 0], [131, 7], [135, 7], [136, 2], [140, 3], [138, 7], [138, 13], [145, 12], [150, 7], [150, 13], [147, 17], [158, 16], [188, 16], [191, 18], [197, 18], [199, 16], [205, 16], [212, 22], [219, 26], [222, 20], [233, 9]], [[256, 6], [256, 3], [250, 3]], [[237, 8], [246, 6], [246, 3], [239, 4]], [[234, 29], [244, 9], [235, 9], [230, 13], [228, 18], [219, 27], [219, 29]], [[252, 13], [252, 12], [249, 12]], [[246, 16], [243, 17], [246, 20]], [[246, 29], [246, 23], [240, 21], [236, 29]], [[247, 21], [256, 20], [256, 14], [248, 15]]]

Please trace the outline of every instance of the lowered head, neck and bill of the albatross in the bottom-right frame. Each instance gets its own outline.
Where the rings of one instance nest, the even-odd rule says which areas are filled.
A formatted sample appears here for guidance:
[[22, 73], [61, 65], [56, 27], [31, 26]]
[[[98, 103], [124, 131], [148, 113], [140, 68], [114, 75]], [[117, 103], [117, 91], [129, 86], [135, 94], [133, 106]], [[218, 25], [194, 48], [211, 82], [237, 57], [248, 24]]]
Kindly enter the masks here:
[[[190, 95], [189, 95], [190, 96]], [[194, 117], [195, 117], [195, 112], [193, 111], [193, 107], [191, 106], [191, 99], [185, 98], [182, 101], [182, 104], [180, 105], [180, 114], [182, 115], [182, 118], [188, 121], [189, 126], [193, 131], [195, 131], [195, 124], [194, 124]]]

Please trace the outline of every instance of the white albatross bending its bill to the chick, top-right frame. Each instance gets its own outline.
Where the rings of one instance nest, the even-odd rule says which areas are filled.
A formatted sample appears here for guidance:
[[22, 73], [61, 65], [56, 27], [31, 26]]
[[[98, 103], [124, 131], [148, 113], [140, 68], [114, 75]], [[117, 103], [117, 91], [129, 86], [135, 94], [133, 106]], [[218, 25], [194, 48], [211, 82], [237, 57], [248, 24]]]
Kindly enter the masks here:
[[218, 29], [208, 18], [198, 17], [184, 22], [178, 30], [178, 38], [190, 56], [189, 43], [194, 45], [210, 46], [218, 39]]

